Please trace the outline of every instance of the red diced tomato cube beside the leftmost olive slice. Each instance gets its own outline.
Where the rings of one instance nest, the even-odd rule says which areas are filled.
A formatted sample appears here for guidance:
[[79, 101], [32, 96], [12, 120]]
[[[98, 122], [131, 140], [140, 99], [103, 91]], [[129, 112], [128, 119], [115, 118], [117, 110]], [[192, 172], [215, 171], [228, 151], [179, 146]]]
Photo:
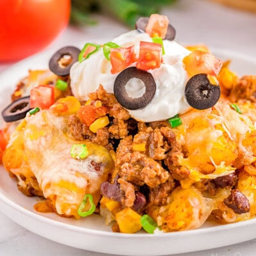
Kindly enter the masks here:
[[31, 89], [31, 108], [48, 109], [54, 104], [54, 87], [51, 85], [38, 85]]

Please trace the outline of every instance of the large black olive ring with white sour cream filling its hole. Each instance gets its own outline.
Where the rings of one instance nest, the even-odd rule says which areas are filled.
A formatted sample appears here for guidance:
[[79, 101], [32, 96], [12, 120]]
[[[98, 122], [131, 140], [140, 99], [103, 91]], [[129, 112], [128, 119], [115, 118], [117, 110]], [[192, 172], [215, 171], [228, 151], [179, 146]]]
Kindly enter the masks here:
[[[125, 86], [132, 78], [138, 78], [145, 85], [145, 93], [141, 97], [132, 98], [128, 95]], [[156, 81], [152, 74], [147, 71], [137, 69], [136, 67], [126, 68], [115, 79], [114, 94], [118, 102], [126, 109], [145, 108], [153, 99], [156, 93]]]

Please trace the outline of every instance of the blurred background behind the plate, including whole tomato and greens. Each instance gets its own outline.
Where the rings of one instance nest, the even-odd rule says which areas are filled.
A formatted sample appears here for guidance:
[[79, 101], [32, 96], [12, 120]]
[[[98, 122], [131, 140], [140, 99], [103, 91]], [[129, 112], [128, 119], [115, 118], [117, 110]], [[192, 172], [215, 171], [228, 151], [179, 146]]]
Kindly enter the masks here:
[[1, 0], [0, 71], [51, 47], [111, 40], [161, 13], [183, 44], [256, 58], [256, 0]]

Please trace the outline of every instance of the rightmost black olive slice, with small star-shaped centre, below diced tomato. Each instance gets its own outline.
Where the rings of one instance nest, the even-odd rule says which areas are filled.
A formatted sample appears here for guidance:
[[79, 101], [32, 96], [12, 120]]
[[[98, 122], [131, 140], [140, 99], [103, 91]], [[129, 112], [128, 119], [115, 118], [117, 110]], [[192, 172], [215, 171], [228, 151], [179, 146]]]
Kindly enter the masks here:
[[195, 109], [211, 108], [220, 99], [220, 86], [211, 84], [207, 74], [196, 74], [186, 84], [185, 97]]

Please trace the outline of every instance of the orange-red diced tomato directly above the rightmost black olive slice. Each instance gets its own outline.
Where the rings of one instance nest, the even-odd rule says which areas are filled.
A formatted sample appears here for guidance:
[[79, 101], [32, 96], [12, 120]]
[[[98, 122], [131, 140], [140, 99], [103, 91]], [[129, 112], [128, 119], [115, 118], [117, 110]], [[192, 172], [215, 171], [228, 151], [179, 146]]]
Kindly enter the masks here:
[[223, 61], [209, 52], [193, 51], [183, 59], [183, 63], [189, 76], [195, 76], [201, 73], [217, 76]]

